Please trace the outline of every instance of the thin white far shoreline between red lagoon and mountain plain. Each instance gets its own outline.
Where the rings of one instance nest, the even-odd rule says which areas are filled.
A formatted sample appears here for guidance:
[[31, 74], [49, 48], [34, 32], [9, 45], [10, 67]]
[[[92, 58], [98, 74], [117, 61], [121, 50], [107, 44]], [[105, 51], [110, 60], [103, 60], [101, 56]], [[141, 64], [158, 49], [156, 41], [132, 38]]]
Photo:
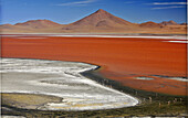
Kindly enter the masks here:
[[0, 34], [2, 36], [62, 36], [62, 37], [137, 37], [137, 39], [163, 39], [163, 40], [186, 40], [186, 34], [93, 34], [93, 33], [7, 33]]

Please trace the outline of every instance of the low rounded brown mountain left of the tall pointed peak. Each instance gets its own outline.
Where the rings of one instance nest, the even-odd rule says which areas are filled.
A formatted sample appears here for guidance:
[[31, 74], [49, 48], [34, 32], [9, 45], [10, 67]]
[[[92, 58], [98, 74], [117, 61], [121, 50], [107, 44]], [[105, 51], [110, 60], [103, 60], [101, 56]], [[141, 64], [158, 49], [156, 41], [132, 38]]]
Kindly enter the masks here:
[[32, 28], [32, 29], [44, 29], [44, 28], [52, 28], [52, 26], [61, 26], [56, 22], [50, 20], [30, 20], [23, 23], [17, 23], [15, 26], [24, 26], [24, 28]]

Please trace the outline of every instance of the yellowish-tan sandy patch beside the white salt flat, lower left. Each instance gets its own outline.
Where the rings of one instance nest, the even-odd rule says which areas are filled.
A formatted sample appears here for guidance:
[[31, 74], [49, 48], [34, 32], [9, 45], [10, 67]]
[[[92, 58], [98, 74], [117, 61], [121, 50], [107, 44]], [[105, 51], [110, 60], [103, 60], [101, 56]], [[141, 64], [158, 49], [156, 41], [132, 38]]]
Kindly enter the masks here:
[[40, 94], [23, 94], [23, 93], [1, 93], [2, 110], [21, 109], [39, 109], [48, 103], [61, 103], [63, 98]]

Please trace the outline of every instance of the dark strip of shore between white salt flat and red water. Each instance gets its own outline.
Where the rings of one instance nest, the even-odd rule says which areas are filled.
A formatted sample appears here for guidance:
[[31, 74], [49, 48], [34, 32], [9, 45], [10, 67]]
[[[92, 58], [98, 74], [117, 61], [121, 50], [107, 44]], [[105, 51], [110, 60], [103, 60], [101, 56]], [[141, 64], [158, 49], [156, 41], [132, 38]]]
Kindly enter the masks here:
[[123, 92], [125, 94], [129, 94], [130, 96], [135, 96], [139, 100], [149, 99], [150, 96], [154, 96], [154, 100], [164, 100], [164, 98], [161, 98], [161, 99], [155, 98], [155, 97], [159, 97], [159, 96], [161, 96], [161, 97], [173, 97], [173, 98], [187, 97], [187, 95], [186, 96], [184, 96], [184, 95], [182, 96], [181, 95], [170, 95], [170, 94], [155, 93], [155, 92], [148, 92], [148, 90], [136, 89], [136, 88], [132, 88], [132, 87], [128, 87], [128, 86], [124, 86], [119, 82], [116, 82], [116, 81], [101, 76], [97, 73], [97, 69], [86, 71], [86, 72], [83, 72], [81, 74], [83, 76], [86, 76], [90, 79], [96, 81], [97, 83], [100, 83], [102, 85], [109, 86], [109, 87], [117, 89], [119, 92]]

